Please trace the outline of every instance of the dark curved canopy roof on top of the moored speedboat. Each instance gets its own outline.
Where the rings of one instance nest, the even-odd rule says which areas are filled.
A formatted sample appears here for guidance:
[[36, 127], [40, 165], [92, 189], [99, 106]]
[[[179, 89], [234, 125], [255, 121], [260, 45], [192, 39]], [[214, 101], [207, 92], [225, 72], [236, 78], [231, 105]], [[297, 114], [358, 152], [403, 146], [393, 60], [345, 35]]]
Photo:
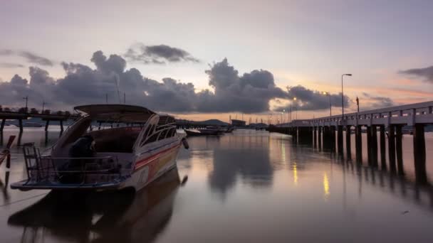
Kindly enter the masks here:
[[88, 104], [74, 107], [78, 112], [88, 114], [98, 121], [140, 122], [144, 123], [155, 112], [145, 107], [127, 104]]

